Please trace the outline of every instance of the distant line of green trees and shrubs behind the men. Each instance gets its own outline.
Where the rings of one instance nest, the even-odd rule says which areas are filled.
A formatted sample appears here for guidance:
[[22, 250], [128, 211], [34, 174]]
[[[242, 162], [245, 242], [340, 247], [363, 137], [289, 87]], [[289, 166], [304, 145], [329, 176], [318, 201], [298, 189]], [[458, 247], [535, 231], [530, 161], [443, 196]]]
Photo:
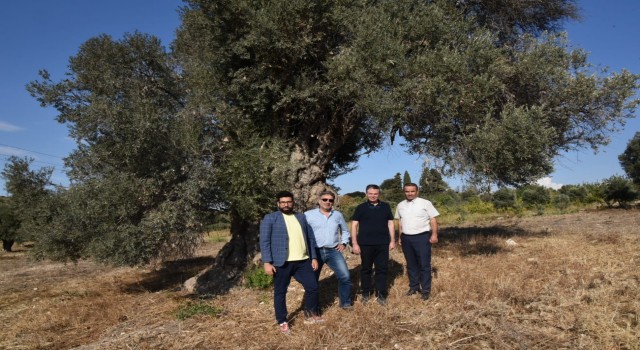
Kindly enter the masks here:
[[[395, 207], [404, 199], [402, 186], [411, 182], [405, 172], [383, 180], [381, 199]], [[407, 182], [408, 181], [408, 182]], [[445, 215], [464, 219], [471, 215], [513, 214], [543, 215], [565, 213], [589, 207], [629, 208], [640, 198], [634, 182], [624, 176], [614, 175], [597, 183], [564, 185], [552, 189], [538, 184], [517, 187], [502, 187], [486, 190], [478, 186], [467, 186], [456, 191], [451, 189], [436, 169], [424, 169], [421, 176], [420, 197], [432, 201]], [[355, 207], [366, 200], [364, 192], [346, 193], [340, 197], [340, 209], [349, 217]]]

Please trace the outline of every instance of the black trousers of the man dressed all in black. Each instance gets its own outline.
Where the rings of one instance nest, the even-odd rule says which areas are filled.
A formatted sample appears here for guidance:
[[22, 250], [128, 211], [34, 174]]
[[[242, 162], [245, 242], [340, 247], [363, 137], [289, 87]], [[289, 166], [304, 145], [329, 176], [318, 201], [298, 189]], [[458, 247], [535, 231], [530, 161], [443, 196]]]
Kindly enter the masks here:
[[373, 292], [372, 276], [375, 274], [375, 285], [378, 297], [387, 297], [387, 271], [389, 270], [389, 245], [361, 245], [360, 287], [363, 296]]

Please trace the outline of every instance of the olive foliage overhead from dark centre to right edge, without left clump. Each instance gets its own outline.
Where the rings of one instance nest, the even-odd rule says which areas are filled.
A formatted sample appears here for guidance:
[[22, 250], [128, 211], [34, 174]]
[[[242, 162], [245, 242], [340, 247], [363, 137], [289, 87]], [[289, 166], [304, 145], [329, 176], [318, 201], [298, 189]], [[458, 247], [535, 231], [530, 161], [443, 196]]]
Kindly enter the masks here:
[[398, 132], [450, 171], [525, 183], [559, 150], [606, 143], [637, 103], [638, 76], [593, 74], [553, 34], [569, 1], [189, 5], [176, 48], [198, 104], [291, 140], [320, 179]]

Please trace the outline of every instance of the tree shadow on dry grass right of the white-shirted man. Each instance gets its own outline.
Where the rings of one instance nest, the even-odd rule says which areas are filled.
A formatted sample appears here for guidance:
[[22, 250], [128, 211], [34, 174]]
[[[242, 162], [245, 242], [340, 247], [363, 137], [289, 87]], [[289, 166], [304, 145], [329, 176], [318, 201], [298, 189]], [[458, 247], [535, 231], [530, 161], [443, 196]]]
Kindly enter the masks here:
[[505, 250], [502, 240], [514, 237], [543, 237], [544, 230], [528, 231], [519, 227], [470, 226], [447, 227], [438, 232], [438, 246], [459, 251], [461, 256], [494, 255]]

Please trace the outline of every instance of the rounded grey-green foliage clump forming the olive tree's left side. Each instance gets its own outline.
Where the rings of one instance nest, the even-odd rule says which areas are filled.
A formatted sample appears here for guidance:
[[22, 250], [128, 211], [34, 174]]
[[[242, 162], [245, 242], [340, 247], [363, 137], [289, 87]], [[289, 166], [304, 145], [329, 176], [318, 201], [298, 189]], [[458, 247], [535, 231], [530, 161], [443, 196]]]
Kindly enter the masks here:
[[222, 139], [210, 116], [186, 113], [186, 91], [159, 40], [142, 34], [85, 42], [59, 83], [42, 72], [29, 91], [58, 109], [78, 148], [71, 187], [40, 201], [36, 253], [117, 265], [192, 253], [202, 223], [224, 209]]

